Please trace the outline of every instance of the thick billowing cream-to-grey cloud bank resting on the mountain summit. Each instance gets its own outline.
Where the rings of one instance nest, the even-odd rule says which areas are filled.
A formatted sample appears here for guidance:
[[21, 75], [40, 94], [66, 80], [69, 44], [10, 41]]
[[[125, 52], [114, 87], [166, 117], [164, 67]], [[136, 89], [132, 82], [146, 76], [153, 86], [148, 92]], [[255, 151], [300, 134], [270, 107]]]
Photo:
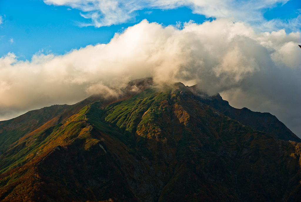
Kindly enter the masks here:
[[[0, 115], [75, 103], [129, 80], [181, 81], [234, 107], [271, 112], [301, 135], [300, 33], [256, 34], [242, 22], [188, 23], [182, 30], [142, 21], [108, 44], [65, 55], [0, 58]], [[113, 92], [112, 92], [113, 93]], [[8, 115], [9, 114], [9, 115]]]

